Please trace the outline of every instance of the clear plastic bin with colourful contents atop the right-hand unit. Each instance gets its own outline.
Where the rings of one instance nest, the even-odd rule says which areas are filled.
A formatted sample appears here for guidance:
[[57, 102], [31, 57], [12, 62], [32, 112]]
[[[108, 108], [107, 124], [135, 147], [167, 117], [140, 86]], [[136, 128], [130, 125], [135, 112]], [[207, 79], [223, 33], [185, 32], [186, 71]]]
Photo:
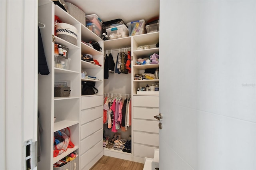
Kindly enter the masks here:
[[129, 36], [145, 34], [146, 33], [145, 24], [146, 24], [145, 20], [128, 22], [127, 26], [128, 26]]

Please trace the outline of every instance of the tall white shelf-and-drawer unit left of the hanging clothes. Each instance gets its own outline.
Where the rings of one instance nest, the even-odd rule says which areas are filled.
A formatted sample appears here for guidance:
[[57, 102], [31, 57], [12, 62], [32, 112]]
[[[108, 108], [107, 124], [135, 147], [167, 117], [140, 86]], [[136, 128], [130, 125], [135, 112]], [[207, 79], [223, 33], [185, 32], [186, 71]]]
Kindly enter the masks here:
[[[71, 24], [78, 30], [76, 45], [54, 36], [54, 15], [64, 23]], [[103, 110], [103, 52], [89, 47], [83, 42], [96, 41], [104, 50], [103, 40], [78, 22], [74, 17], [54, 5], [52, 0], [39, 0], [38, 22], [45, 25], [40, 28], [49, 75], [38, 75], [38, 111], [41, 134], [41, 157], [38, 169], [53, 170], [53, 164], [72, 152], [79, 155], [77, 169], [89, 169], [103, 155], [102, 150], [102, 110]], [[83, 41], [83, 42], [82, 42]], [[69, 49], [71, 59], [69, 69], [54, 67], [54, 43], [59, 43]], [[94, 65], [81, 60], [82, 54], [92, 54], [102, 65]], [[81, 70], [97, 80], [81, 79]], [[54, 97], [54, 82], [67, 81], [71, 89], [69, 97]], [[82, 81], [95, 81], [99, 92], [96, 95], [81, 95]], [[98, 101], [98, 102], [94, 102]], [[90, 115], [92, 114], [93, 115]], [[54, 117], [56, 121], [54, 122]], [[54, 132], [63, 128], [70, 129], [70, 140], [74, 148], [53, 157]]]

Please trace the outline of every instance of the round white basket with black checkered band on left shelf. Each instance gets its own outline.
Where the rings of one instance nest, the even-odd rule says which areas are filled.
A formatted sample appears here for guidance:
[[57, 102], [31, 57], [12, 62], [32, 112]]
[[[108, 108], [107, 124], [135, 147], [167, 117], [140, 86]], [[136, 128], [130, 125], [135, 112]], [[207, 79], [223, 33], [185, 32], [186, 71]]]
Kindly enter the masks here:
[[76, 45], [78, 31], [76, 27], [66, 24], [66, 23], [58, 23], [56, 26], [56, 36]]

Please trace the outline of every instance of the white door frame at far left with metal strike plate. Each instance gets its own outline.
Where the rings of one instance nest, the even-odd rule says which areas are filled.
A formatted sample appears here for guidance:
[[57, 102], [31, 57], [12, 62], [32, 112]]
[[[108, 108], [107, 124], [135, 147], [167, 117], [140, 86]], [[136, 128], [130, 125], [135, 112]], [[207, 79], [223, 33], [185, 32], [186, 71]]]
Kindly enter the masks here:
[[0, 169], [36, 169], [37, 0], [0, 1]]

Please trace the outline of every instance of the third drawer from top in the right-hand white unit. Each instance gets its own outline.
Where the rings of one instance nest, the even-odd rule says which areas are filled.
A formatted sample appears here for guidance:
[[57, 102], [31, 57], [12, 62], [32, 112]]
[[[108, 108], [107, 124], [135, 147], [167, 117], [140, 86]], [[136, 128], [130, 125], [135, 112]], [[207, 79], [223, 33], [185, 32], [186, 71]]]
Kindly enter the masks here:
[[133, 130], [159, 133], [158, 123], [159, 121], [145, 121], [145, 120], [134, 119]]

